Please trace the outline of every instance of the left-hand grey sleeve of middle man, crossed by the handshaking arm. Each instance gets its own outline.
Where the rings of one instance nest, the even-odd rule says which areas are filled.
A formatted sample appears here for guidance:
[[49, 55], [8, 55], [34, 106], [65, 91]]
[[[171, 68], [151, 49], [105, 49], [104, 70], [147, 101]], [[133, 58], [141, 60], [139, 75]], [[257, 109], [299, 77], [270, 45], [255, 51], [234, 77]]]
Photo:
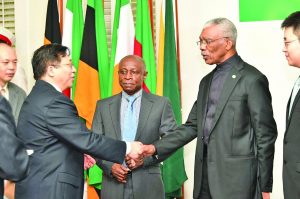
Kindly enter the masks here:
[[[94, 119], [92, 123], [92, 131], [94, 133], [100, 134], [100, 135], [105, 135], [104, 134], [104, 128], [103, 128], [103, 120], [102, 120], [102, 115], [101, 115], [101, 102], [99, 101], [96, 106], [96, 111], [94, 114]], [[96, 158], [97, 165], [103, 170], [103, 172], [107, 176], [111, 176], [111, 167], [114, 164], [113, 162], [102, 160], [99, 158]], [[112, 176], [111, 176], [112, 177]]]

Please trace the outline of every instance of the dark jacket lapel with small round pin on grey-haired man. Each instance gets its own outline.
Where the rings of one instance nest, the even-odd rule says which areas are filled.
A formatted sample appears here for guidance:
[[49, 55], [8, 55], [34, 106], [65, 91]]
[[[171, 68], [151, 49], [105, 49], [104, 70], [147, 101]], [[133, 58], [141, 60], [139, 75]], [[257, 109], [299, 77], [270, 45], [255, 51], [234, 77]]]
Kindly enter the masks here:
[[238, 69], [237, 67], [233, 66], [232, 69], [230, 70], [230, 72], [228, 73], [228, 76], [225, 80], [225, 84], [223, 86], [221, 95], [220, 95], [220, 99], [219, 99], [219, 103], [217, 105], [216, 108], [216, 112], [215, 112], [215, 116], [212, 122], [212, 127], [211, 127], [211, 131], [214, 129], [235, 85], [237, 84], [237, 82], [239, 81], [239, 79], [241, 78], [241, 74], [239, 72], [240, 69]]

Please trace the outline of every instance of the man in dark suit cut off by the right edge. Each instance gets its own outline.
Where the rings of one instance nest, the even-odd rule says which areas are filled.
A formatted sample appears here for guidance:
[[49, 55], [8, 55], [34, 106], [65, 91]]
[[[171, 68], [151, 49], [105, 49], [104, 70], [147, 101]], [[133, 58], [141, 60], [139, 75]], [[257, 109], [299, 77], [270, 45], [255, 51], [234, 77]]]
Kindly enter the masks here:
[[[281, 24], [283, 52], [288, 64], [300, 68], [300, 12], [289, 15]], [[285, 199], [300, 198], [300, 78], [298, 77], [286, 109], [283, 140], [283, 192]]]

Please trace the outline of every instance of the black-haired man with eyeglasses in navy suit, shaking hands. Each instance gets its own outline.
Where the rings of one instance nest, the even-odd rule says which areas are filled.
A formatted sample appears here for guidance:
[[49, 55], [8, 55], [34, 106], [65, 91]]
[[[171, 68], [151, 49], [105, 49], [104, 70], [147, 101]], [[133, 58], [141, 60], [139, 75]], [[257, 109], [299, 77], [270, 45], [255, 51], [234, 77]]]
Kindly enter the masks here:
[[16, 199], [82, 199], [84, 153], [124, 162], [139, 160], [141, 143], [90, 132], [62, 91], [72, 86], [75, 68], [67, 47], [41, 46], [32, 58], [36, 81], [20, 111], [17, 136], [31, 150], [28, 176], [16, 183]]

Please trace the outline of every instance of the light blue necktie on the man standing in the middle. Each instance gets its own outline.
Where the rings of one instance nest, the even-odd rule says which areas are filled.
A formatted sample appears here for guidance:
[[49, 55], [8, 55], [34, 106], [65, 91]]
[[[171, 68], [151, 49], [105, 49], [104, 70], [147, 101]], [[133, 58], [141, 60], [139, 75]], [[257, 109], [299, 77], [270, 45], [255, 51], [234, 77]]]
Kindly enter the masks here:
[[125, 112], [122, 136], [124, 141], [131, 142], [134, 141], [137, 129], [136, 113], [134, 107], [136, 98], [134, 96], [129, 96], [127, 100], [128, 106]]

